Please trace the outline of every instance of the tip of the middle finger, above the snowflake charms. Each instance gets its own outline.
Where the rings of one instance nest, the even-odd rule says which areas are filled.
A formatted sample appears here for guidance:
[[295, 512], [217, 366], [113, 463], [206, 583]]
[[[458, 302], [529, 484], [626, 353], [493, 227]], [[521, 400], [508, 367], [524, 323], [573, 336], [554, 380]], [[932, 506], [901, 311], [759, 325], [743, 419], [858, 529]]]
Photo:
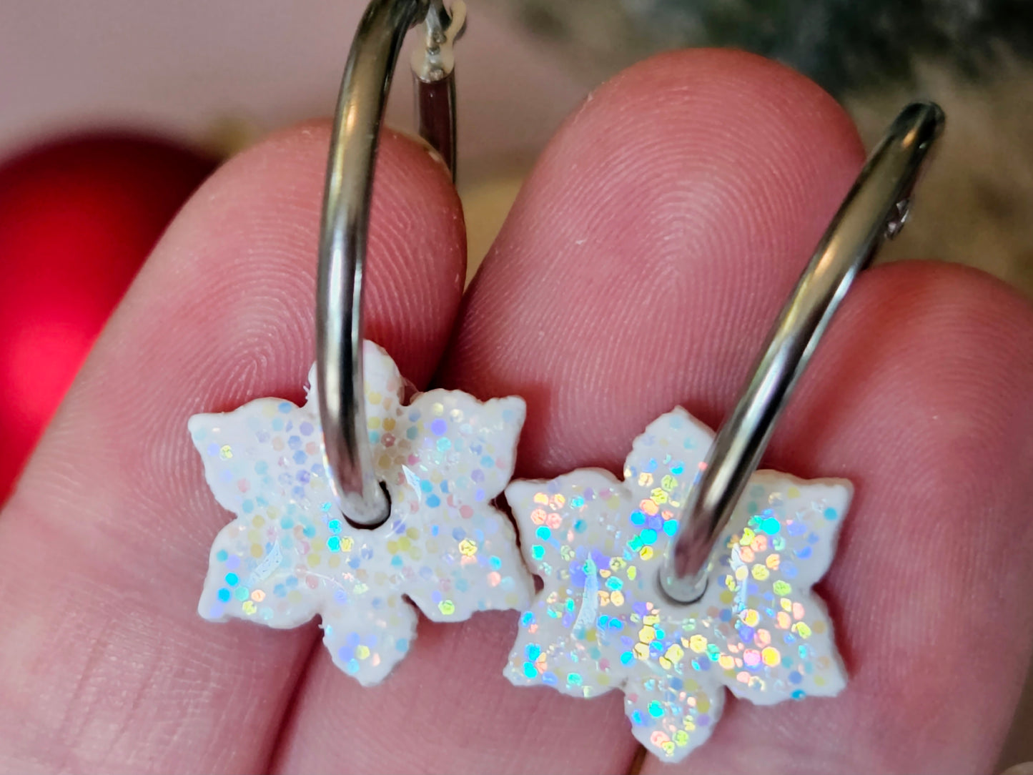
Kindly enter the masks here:
[[543, 153], [446, 378], [525, 396], [532, 475], [617, 466], [686, 401], [713, 424], [862, 161], [843, 110], [781, 65], [701, 50], [626, 70]]

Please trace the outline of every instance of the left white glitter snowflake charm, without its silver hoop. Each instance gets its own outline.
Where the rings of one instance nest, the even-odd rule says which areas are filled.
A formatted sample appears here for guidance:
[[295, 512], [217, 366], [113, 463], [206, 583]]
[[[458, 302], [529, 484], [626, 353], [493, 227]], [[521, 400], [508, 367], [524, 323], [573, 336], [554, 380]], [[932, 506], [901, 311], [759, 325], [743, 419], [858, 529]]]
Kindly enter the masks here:
[[[294, 627], [318, 614], [335, 663], [375, 684], [405, 656], [416, 613], [460, 621], [523, 609], [534, 586], [491, 505], [512, 474], [524, 401], [435, 390], [403, 400], [398, 367], [365, 343], [366, 416], [387, 521], [352, 527], [324, 468], [315, 391], [190, 420], [216, 499], [237, 515], [212, 546], [198, 611]], [[309, 375], [313, 384], [315, 367]]]

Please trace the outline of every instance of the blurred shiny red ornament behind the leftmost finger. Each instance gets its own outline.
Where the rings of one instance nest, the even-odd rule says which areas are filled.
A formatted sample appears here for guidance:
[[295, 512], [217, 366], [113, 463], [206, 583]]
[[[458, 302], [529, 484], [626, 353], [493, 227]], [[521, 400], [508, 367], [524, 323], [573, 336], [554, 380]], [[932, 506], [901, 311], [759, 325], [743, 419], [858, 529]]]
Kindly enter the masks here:
[[136, 270], [214, 166], [119, 134], [0, 165], [0, 501]]

